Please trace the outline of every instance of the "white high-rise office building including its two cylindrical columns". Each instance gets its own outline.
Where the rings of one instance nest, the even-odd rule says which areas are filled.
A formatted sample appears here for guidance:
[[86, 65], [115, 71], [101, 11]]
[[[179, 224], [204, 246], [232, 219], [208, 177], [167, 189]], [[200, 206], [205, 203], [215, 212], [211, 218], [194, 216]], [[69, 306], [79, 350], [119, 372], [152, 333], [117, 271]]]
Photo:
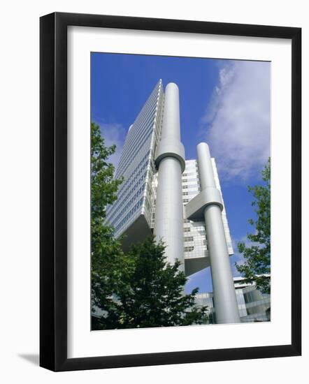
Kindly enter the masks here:
[[215, 160], [206, 143], [185, 161], [180, 140], [179, 91], [161, 80], [130, 126], [115, 177], [124, 182], [106, 221], [123, 247], [152, 233], [187, 276], [210, 267], [217, 323], [238, 323], [229, 256], [233, 253]]

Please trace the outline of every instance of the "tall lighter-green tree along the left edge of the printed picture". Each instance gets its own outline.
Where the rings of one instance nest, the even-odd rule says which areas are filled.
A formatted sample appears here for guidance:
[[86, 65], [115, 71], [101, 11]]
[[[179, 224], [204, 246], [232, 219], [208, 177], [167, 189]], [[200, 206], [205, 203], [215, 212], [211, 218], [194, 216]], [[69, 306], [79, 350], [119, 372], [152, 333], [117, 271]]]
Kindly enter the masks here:
[[[117, 188], [122, 180], [113, 178], [115, 168], [108, 162], [115, 152], [115, 145], [106, 147], [100, 127], [91, 124], [91, 241], [92, 241], [92, 309], [106, 313], [105, 329], [117, 325], [117, 307], [113, 297], [124, 290], [122, 274], [129, 267], [129, 260], [121, 249], [120, 241], [113, 235], [113, 228], [104, 223], [106, 205], [116, 200]], [[122, 271], [122, 274], [120, 274]]]

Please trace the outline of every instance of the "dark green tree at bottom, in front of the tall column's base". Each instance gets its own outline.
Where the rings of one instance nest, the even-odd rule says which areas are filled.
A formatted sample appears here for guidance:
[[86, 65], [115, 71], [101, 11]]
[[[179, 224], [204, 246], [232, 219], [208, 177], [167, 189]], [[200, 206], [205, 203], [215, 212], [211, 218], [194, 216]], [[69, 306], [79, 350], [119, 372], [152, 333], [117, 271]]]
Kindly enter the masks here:
[[[133, 267], [129, 269], [129, 289], [117, 297], [117, 328], [167, 327], [206, 323], [207, 307], [196, 307], [199, 288], [185, 295], [187, 278], [180, 262], [166, 263], [164, 245], [153, 237], [129, 251]], [[104, 321], [104, 319], [102, 319]]]

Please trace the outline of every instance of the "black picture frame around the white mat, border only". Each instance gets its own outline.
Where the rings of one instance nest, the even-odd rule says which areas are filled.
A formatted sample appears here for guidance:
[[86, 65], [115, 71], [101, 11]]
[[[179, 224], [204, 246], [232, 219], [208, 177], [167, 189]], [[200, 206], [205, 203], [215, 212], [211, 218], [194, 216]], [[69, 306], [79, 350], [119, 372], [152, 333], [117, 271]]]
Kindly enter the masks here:
[[[292, 40], [292, 344], [67, 358], [67, 27], [103, 27]], [[52, 371], [301, 355], [301, 29], [52, 13], [40, 20], [40, 365]]]

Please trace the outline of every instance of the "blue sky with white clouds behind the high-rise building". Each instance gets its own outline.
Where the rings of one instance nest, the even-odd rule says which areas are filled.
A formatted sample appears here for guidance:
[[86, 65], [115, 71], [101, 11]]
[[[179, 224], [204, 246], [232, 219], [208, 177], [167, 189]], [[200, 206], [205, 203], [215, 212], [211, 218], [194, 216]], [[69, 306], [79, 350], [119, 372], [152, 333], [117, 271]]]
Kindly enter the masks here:
[[[180, 89], [181, 138], [186, 158], [196, 158], [196, 145], [208, 142], [216, 158], [235, 256], [254, 218], [248, 185], [261, 182], [270, 156], [271, 64], [186, 57], [92, 53], [91, 119], [101, 126], [108, 145], [116, 144], [117, 166], [129, 126], [161, 78], [164, 87]], [[233, 273], [237, 276], [236, 269]], [[186, 290], [212, 290], [209, 268], [194, 274]]]

